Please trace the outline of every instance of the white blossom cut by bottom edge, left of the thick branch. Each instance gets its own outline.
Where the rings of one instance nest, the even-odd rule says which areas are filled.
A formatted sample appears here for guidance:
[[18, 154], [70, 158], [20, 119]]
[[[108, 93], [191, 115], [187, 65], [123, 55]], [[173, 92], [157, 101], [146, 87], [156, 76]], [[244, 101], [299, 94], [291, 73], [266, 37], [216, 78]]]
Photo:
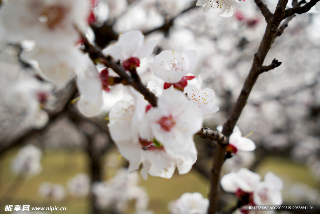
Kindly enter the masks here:
[[171, 214], [206, 214], [209, 199], [201, 193], [183, 193], [179, 199], [169, 204]]

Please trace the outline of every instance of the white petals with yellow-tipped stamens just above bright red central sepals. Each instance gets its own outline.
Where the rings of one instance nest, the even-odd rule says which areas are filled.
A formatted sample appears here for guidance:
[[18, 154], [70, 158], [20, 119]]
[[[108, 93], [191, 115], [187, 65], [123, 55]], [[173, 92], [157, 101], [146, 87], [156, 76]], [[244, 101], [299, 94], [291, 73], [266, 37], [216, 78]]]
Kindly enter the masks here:
[[177, 56], [172, 50], [162, 51], [148, 63], [153, 73], [166, 83], [179, 82], [183, 76], [191, 73], [197, 63], [196, 50], [188, 50]]

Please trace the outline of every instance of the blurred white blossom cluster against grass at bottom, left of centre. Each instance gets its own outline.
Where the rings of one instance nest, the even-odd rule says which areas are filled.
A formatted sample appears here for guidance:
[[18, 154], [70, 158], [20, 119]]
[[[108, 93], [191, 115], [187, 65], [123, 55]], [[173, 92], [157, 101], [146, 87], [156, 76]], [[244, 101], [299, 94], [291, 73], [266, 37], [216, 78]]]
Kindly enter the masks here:
[[139, 174], [128, 174], [126, 169], [119, 169], [116, 175], [106, 182], [94, 183], [92, 193], [100, 209], [109, 208], [117, 213], [124, 213], [129, 201], [135, 201], [137, 212], [144, 213], [149, 203], [149, 195], [142, 186], [138, 186]]

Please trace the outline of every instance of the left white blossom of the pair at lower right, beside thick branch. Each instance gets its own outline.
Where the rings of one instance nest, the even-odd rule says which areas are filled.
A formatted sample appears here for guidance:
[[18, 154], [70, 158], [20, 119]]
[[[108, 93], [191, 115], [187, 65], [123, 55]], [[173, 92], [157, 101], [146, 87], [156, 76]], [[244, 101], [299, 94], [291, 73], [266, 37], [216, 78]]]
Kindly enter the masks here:
[[221, 187], [229, 193], [236, 193], [242, 190], [245, 193], [252, 193], [261, 180], [261, 175], [254, 173], [247, 168], [241, 168], [237, 172], [230, 172], [221, 177]]

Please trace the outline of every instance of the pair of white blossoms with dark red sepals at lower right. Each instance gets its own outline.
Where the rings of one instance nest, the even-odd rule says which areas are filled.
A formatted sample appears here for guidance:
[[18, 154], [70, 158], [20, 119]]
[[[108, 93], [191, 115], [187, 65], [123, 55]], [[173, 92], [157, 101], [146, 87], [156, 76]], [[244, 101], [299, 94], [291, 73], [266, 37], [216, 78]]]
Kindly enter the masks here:
[[[261, 175], [247, 168], [223, 175], [221, 187], [225, 192], [234, 193], [242, 205], [281, 205], [283, 202], [281, 190], [283, 181], [273, 172], [267, 172], [264, 181]], [[239, 211], [247, 213], [248, 211]], [[249, 211], [254, 213], [254, 211]]]

